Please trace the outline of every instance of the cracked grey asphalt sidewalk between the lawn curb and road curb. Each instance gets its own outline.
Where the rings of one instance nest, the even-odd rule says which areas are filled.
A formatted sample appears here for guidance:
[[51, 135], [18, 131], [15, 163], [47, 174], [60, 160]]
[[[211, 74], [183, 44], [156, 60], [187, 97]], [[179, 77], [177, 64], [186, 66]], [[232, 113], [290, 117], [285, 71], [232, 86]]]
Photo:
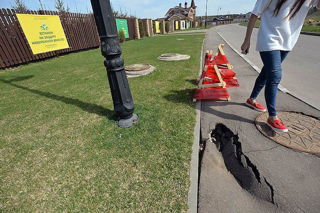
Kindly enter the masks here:
[[[286, 148], [257, 130], [254, 121], [260, 113], [244, 102], [258, 73], [220, 38], [216, 28], [205, 32], [204, 54], [225, 44], [241, 86], [228, 88], [230, 102], [202, 101], [198, 212], [318, 212], [320, 156]], [[263, 91], [258, 101], [265, 105]], [[278, 111], [320, 118], [319, 111], [280, 91], [277, 104]]]

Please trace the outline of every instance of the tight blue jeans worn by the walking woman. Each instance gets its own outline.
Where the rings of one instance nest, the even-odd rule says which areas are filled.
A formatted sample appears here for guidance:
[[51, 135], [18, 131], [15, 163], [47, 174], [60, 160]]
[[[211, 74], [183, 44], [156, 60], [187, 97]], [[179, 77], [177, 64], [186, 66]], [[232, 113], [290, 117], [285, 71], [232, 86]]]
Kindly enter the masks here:
[[277, 91], [282, 78], [281, 63], [288, 54], [289, 51], [283, 50], [260, 52], [263, 67], [256, 79], [250, 98], [256, 99], [265, 86], [264, 97], [269, 116], [277, 115]]

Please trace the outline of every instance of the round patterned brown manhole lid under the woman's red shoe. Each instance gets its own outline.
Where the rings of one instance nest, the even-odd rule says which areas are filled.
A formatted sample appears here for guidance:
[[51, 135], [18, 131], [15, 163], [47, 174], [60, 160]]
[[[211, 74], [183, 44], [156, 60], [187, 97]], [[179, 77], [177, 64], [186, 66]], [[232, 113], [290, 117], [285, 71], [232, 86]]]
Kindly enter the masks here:
[[278, 112], [279, 119], [289, 131], [275, 132], [265, 124], [268, 113], [256, 118], [256, 126], [263, 135], [286, 147], [320, 154], [320, 121], [298, 113]]

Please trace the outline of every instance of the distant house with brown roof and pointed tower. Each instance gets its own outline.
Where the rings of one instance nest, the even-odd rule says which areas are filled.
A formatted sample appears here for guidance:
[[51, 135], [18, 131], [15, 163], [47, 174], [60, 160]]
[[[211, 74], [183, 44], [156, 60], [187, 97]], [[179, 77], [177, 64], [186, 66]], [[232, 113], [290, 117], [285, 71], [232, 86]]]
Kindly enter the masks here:
[[170, 8], [166, 13], [167, 20], [195, 20], [196, 19], [196, 8], [195, 1], [191, 1], [191, 6], [188, 7], [188, 3], [184, 3], [184, 8], [179, 6], [175, 6], [174, 8]]

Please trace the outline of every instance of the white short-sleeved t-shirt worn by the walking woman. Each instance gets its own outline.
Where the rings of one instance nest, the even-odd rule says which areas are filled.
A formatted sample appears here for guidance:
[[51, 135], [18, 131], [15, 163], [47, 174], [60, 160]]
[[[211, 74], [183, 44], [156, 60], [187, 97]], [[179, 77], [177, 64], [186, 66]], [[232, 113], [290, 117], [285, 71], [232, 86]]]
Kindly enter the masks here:
[[[258, 32], [257, 51], [287, 50], [296, 45], [304, 20], [311, 6], [317, 6], [320, 0], [306, 0], [297, 15], [290, 19], [285, 17], [297, 0], [287, 0], [279, 14], [274, 15], [278, 0], [258, 0], [252, 14], [261, 15]], [[295, 10], [294, 10], [295, 11]], [[294, 11], [290, 14], [292, 15]]]

